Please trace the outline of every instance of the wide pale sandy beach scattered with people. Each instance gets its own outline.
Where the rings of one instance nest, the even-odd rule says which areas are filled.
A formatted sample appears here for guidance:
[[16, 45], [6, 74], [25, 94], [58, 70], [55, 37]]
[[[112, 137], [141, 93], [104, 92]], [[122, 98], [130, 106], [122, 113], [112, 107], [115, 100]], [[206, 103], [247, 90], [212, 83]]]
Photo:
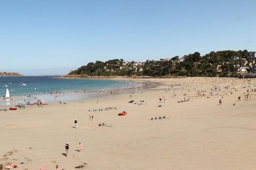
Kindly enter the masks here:
[[[255, 79], [132, 81], [159, 85], [146, 92], [118, 94], [98, 101], [0, 111], [0, 164], [11, 162], [20, 170], [54, 170], [56, 165], [64, 170], [75, 170], [80, 165], [85, 170], [256, 168]], [[105, 107], [117, 110], [105, 111]], [[89, 112], [99, 108], [103, 111]], [[122, 111], [128, 114], [118, 116]], [[77, 129], [73, 127], [75, 119]], [[76, 151], [79, 142], [83, 145], [81, 152]]]

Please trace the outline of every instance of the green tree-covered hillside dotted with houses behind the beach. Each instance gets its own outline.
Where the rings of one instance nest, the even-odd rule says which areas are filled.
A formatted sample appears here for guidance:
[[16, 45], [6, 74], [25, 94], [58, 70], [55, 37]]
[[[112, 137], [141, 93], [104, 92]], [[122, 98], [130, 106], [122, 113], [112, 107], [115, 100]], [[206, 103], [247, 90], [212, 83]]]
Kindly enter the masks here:
[[[88, 63], [68, 75], [81, 76], [214, 76], [217, 74], [235, 74], [237, 66], [250, 65], [254, 70], [254, 58], [246, 58], [244, 51], [212, 51], [201, 56], [199, 52], [175, 56], [171, 59], [147, 60], [145, 62], [126, 62], [114, 59], [106, 62]], [[236, 59], [234, 59], [236, 58]], [[246, 63], [245, 63], [246, 62]]]

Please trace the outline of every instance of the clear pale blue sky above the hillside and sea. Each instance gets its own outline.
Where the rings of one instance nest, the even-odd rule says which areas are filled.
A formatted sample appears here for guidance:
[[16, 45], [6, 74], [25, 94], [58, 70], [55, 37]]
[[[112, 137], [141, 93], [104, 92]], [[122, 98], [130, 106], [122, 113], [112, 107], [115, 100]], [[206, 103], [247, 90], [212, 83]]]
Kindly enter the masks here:
[[255, 9], [256, 0], [0, 0], [0, 71], [256, 51]]

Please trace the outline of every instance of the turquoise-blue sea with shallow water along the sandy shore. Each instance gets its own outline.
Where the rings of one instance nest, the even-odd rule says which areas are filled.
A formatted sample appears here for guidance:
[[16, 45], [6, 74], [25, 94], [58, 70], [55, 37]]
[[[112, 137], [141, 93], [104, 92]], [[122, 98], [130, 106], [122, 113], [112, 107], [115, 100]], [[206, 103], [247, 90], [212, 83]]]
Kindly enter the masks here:
[[[82, 101], [107, 97], [118, 92], [130, 93], [139, 83], [106, 79], [60, 79], [56, 76], [0, 77], [0, 105], [16, 101], [45, 103]], [[6, 88], [10, 99], [3, 99]], [[57, 93], [58, 92], [58, 93]]]

